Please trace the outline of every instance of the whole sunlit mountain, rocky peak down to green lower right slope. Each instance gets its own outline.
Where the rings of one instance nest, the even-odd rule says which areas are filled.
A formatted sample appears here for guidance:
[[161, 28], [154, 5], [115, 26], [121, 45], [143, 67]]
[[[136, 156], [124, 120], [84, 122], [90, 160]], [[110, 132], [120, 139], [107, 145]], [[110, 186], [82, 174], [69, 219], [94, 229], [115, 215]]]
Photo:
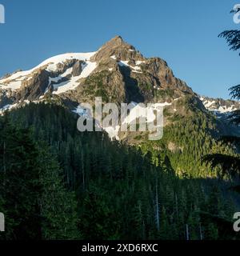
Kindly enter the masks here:
[[157, 156], [168, 155], [178, 174], [211, 176], [209, 167], [201, 163], [202, 155], [214, 150], [230, 153], [215, 139], [236, 130], [227, 124], [226, 115], [217, 117], [238, 108], [239, 103], [200, 98], [186, 82], [174, 76], [164, 60], [145, 58], [119, 36], [95, 52], [58, 55], [32, 70], [0, 79], [2, 112], [29, 102], [46, 101], [65, 105], [82, 115], [80, 104], [94, 104], [95, 97], [118, 106], [131, 103], [133, 110], [140, 102], [164, 106], [165, 129], [159, 142], [148, 142], [147, 132], [122, 132], [121, 123], [104, 128], [111, 138], [140, 145]]

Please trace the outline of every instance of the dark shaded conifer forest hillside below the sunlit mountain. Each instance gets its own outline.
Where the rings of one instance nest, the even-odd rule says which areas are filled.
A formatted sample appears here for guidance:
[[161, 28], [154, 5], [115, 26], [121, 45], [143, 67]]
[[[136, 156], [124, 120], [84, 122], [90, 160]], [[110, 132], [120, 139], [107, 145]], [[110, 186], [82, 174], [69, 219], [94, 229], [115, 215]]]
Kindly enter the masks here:
[[[182, 179], [178, 154], [80, 133], [77, 118], [62, 106], [31, 103], [0, 119], [2, 239], [235, 238], [230, 182]], [[178, 133], [174, 142], [186, 146], [175, 129], [166, 137]], [[195, 166], [193, 156], [187, 161]]]

